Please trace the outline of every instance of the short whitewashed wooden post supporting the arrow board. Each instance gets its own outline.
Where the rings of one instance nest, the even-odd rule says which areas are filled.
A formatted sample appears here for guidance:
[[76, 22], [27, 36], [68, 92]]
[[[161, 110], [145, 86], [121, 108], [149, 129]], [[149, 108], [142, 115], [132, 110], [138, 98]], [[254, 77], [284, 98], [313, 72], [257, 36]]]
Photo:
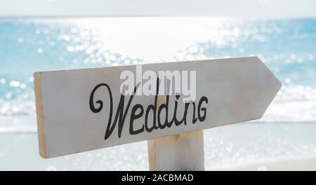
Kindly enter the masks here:
[[203, 130], [152, 139], [147, 146], [151, 171], [205, 170]]

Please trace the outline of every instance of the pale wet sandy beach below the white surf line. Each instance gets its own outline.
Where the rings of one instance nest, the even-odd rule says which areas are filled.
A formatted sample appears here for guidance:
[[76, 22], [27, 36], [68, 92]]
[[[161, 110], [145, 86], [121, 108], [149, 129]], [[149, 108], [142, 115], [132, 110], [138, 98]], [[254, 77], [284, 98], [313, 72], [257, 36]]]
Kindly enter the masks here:
[[[313, 123], [239, 123], [205, 130], [205, 168], [316, 170], [315, 127]], [[0, 170], [148, 170], [147, 142], [50, 159], [39, 156], [36, 132], [0, 133], [0, 145]]]

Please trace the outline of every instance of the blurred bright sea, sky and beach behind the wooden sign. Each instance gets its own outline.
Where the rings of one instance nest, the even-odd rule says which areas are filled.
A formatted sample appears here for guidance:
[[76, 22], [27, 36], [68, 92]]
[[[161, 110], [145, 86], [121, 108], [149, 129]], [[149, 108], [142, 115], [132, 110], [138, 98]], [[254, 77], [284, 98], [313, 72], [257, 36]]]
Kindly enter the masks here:
[[148, 170], [147, 142], [42, 159], [34, 71], [258, 56], [259, 121], [204, 130], [206, 170], [316, 169], [316, 1], [0, 1], [0, 170]]

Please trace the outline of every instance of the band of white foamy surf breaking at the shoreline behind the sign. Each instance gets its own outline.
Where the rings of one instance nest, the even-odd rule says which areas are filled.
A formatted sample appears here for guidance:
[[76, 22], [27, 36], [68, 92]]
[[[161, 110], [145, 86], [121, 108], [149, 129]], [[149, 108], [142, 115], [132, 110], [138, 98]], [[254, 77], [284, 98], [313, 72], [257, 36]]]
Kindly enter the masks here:
[[[0, 132], [36, 132], [34, 100], [0, 100]], [[316, 122], [316, 89], [284, 85], [263, 118], [265, 123]]]

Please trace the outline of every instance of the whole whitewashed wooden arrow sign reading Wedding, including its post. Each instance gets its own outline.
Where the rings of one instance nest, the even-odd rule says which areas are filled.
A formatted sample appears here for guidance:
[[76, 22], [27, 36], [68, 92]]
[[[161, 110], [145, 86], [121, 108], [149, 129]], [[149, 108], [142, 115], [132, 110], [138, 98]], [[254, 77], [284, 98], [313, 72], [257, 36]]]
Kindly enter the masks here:
[[150, 170], [204, 170], [203, 130], [261, 118], [280, 88], [258, 57], [35, 72], [39, 153], [148, 140]]

